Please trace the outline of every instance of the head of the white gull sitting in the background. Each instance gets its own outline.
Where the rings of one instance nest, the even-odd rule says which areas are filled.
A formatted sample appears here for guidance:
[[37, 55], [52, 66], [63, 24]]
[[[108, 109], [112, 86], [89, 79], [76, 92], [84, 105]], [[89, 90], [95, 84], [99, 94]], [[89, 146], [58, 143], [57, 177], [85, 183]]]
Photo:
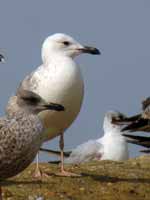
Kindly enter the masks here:
[[104, 117], [104, 124], [103, 124], [104, 132], [107, 133], [107, 132], [121, 131], [122, 125], [113, 124], [113, 119], [120, 120], [124, 118], [125, 118], [125, 115], [123, 115], [120, 112], [117, 112], [117, 111], [107, 112]]

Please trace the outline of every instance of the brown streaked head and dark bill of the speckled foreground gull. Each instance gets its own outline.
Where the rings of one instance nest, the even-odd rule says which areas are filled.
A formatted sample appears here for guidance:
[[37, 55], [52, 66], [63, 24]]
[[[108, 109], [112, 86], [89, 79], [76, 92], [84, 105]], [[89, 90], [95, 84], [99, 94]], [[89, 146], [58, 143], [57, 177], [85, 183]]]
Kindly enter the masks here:
[[17, 93], [17, 104], [32, 114], [38, 114], [44, 110], [64, 111], [60, 104], [46, 103], [38, 94], [28, 90], [20, 90]]

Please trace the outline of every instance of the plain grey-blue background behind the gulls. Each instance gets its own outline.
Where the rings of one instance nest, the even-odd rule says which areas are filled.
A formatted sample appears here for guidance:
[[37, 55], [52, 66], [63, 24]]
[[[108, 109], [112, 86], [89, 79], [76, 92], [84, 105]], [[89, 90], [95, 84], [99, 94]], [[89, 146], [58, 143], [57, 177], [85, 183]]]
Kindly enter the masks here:
[[[7, 57], [0, 65], [1, 113], [19, 82], [41, 63], [43, 40], [55, 32], [68, 33], [102, 52], [76, 59], [85, 98], [78, 119], [66, 132], [68, 149], [101, 136], [107, 110], [134, 114], [150, 95], [150, 1], [0, 0], [0, 48]], [[57, 148], [58, 140], [46, 146]], [[137, 154], [132, 146], [131, 156]]]

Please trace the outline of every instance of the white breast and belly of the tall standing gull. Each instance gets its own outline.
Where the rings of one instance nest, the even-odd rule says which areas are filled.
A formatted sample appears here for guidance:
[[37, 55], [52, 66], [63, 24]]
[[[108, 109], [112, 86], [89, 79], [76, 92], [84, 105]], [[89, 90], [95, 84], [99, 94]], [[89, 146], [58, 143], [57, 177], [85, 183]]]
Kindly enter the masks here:
[[80, 68], [71, 59], [69, 62], [57, 60], [46, 67], [42, 65], [33, 78], [38, 80], [33, 92], [47, 102], [60, 103], [65, 107], [65, 112], [44, 111], [40, 114], [47, 128], [45, 134], [48, 140], [67, 129], [77, 117], [84, 94], [83, 79]]

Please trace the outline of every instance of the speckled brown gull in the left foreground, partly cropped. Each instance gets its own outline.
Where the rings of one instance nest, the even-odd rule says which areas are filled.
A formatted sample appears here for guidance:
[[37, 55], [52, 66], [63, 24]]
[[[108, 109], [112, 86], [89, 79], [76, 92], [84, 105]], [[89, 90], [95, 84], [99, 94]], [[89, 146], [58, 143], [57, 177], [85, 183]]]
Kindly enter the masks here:
[[12, 101], [15, 111], [0, 118], [0, 179], [17, 175], [35, 158], [44, 140], [44, 125], [37, 114], [64, 110], [63, 106], [46, 103], [27, 90], [18, 91]]

